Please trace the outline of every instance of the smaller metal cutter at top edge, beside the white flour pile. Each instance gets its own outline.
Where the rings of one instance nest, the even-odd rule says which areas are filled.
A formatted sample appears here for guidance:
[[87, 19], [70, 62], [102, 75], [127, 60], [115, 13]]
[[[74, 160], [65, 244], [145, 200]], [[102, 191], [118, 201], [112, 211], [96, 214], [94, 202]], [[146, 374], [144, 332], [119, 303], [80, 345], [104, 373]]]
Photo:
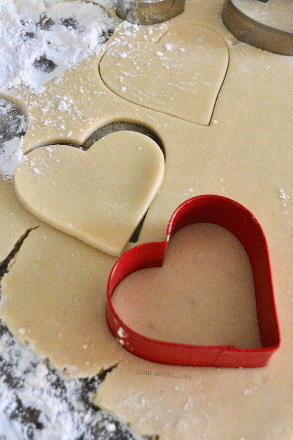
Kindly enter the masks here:
[[184, 11], [185, 0], [118, 0], [117, 15], [133, 24], [166, 22]]

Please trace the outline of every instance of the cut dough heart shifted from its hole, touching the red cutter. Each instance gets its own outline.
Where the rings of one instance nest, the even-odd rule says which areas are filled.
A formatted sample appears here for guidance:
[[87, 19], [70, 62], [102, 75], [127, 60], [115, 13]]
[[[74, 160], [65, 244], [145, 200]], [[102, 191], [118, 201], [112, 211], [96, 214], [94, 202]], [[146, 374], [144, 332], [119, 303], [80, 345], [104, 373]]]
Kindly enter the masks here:
[[84, 152], [51, 145], [26, 155], [14, 175], [21, 203], [39, 219], [120, 255], [158, 192], [164, 156], [149, 137], [108, 134]]

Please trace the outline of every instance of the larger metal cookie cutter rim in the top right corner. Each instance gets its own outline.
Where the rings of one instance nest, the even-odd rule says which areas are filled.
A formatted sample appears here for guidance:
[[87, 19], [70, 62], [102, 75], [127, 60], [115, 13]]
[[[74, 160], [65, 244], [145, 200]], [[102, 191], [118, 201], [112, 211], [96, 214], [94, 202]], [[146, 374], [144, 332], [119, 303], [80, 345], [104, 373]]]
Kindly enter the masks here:
[[232, 0], [224, 1], [222, 19], [237, 40], [269, 52], [293, 56], [292, 32], [276, 29], [253, 20], [241, 12]]

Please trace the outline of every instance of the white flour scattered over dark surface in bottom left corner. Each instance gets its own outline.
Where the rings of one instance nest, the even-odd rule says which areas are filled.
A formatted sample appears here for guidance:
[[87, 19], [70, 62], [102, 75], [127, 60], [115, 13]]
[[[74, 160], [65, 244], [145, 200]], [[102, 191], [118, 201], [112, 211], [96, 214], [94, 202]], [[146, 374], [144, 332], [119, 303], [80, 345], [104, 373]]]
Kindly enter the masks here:
[[0, 352], [1, 440], [137, 439], [90, 402], [98, 376], [66, 378], [1, 323]]

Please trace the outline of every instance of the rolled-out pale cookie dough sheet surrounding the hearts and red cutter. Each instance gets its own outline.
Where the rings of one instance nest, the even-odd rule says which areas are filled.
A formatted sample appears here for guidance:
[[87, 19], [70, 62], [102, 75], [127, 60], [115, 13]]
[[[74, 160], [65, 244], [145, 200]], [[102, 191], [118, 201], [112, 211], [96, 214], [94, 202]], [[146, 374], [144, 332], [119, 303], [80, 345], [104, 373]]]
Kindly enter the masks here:
[[[116, 259], [28, 214], [9, 181], [0, 186], [0, 247], [2, 250], [3, 240], [6, 249], [3, 260], [30, 232], [2, 279], [0, 314], [19, 340], [31, 344], [48, 356], [52, 365], [65, 368], [73, 377], [94, 376], [115, 366], [98, 390], [97, 380], [87, 384], [90, 403], [83, 406], [84, 413], [92, 415], [97, 409], [94, 404], [99, 405], [129, 423], [136, 433], [159, 439], [292, 440], [293, 59], [237, 42], [221, 21], [221, 8], [222, 1], [193, 0], [170, 22], [141, 28], [118, 25], [99, 53], [56, 77], [42, 93], [19, 88], [7, 89], [2, 96], [19, 104], [26, 115], [28, 128], [21, 142], [24, 153], [52, 143], [81, 146], [99, 127], [117, 121], [139, 124], [155, 133], [166, 156], [165, 174], [138, 243], [165, 240], [173, 211], [195, 195], [219, 194], [247, 207], [268, 240], [281, 348], [261, 369], [167, 366], [131, 355], [114, 340], [105, 320], [107, 277]], [[100, 59], [107, 48], [133, 40], [158, 43], [169, 29], [185, 23], [216, 32], [229, 51], [227, 74], [209, 125], [126, 101], [111, 91], [99, 74]], [[166, 41], [160, 51], [172, 50], [172, 44]], [[213, 56], [216, 48], [211, 51]], [[122, 59], [125, 56], [127, 52], [121, 52]], [[137, 72], [139, 76], [139, 69]], [[121, 87], [126, 86], [122, 83]], [[11, 350], [8, 345], [7, 353]], [[31, 366], [29, 374], [19, 365], [18, 371], [26, 371], [27, 386], [35, 387], [34, 395], [38, 395], [31, 431], [36, 439], [41, 438], [49, 429], [41, 388], [51, 376], [44, 367], [36, 371]], [[57, 382], [56, 378], [54, 390]], [[2, 383], [7, 383], [4, 375]], [[14, 382], [19, 396], [21, 383]], [[70, 383], [69, 388], [80, 382]], [[23, 400], [27, 411], [17, 412], [20, 403], [13, 400], [15, 394], [11, 393], [12, 403], [2, 412], [12, 415], [6, 425], [11, 432], [13, 423], [21, 420], [20, 414], [27, 414], [33, 405]], [[72, 411], [81, 414], [78, 405]], [[71, 413], [64, 414], [69, 418]], [[114, 422], [103, 423], [101, 437], [115, 438], [118, 428]], [[65, 422], [63, 426], [68, 432]], [[85, 438], [99, 438], [94, 429], [86, 429]]]

